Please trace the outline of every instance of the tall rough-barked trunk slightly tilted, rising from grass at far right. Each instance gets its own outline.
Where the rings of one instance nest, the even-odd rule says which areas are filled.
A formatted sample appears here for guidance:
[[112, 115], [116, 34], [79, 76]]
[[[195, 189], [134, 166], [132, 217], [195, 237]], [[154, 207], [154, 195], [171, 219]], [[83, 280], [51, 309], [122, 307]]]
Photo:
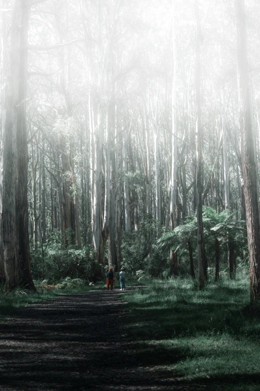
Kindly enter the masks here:
[[251, 123], [248, 79], [245, 1], [236, 0], [237, 57], [242, 137], [242, 168], [245, 186], [248, 248], [250, 260], [251, 301], [260, 299], [260, 218], [257, 168], [254, 153], [255, 134]]

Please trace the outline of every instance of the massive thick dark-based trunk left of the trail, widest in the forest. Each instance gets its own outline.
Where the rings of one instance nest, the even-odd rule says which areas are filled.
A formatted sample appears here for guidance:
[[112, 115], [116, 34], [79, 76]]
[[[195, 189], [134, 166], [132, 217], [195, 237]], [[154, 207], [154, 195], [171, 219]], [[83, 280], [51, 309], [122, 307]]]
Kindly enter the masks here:
[[[5, 4], [1, 1], [1, 8]], [[27, 199], [27, 36], [29, 6], [13, 3], [10, 48], [3, 52], [0, 218], [7, 289], [35, 289], [31, 276]]]

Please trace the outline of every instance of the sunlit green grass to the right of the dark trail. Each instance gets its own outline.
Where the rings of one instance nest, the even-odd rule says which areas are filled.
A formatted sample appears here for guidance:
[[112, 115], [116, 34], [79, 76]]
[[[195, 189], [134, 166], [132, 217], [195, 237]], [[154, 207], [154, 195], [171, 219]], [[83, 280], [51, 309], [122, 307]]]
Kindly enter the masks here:
[[202, 292], [192, 280], [172, 279], [124, 295], [139, 362], [210, 390], [260, 390], [260, 307], [249, 297], [245, 274]]

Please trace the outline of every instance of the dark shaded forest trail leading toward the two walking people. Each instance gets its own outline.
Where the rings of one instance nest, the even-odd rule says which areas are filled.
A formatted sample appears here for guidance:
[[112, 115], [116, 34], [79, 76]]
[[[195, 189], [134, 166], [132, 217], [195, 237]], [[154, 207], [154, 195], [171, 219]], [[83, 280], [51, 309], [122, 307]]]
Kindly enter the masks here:
[[145, 364], [127, 338], [119, 292], [62, 296], [1, 323], [0, 390], [205, 390]]

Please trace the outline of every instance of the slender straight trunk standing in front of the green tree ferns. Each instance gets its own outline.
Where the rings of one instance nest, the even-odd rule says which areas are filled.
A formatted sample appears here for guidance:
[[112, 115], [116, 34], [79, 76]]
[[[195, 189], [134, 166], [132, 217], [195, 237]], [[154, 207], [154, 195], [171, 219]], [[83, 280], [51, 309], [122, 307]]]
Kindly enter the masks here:
[[199, 17], [198, 0], [195, 0], [196, 16], [196, 58], [195, 58], [195, 90], [196, 90], [196, 202], [197, 202], [197, 242], [198, 242], [198, 270], [199, 270], [199, 289], [205, 285], [204, 275], [204, 251], [203, 251], [203, 221], [202, 221], [202, 128], [201, 128], [201, 93], [200, 93], [200, 39], [201, 26]]

